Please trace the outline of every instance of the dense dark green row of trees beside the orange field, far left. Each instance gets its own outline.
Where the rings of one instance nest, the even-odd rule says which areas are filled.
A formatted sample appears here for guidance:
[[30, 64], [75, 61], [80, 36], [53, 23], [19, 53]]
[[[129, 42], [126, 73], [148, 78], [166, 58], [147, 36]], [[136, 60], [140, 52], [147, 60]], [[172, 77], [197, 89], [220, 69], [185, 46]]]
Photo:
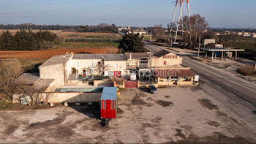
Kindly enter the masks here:
[[56, 34], [50, 31], [3, 31], [0, 36], [0, 50], [46, 50], [59, 44]]

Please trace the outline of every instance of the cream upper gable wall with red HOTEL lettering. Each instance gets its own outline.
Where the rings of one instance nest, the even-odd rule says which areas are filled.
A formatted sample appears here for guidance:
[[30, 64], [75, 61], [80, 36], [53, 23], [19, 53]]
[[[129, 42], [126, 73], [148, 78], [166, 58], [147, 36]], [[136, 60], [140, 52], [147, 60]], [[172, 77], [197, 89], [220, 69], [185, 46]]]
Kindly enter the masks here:
[[[174, 56], [174, 58], [173, 58]], [[180, 56], [177, 56], [176, 54], [169, 53], [167, 55], [157, 58], [153, 58], [153, 67], [166, 67], [166, 66], [173, 66], [173, 65], [180, 65], [182, 63], [182, 59]], [[164, 64], [164, 61], [166, 61], [166, 65]]]

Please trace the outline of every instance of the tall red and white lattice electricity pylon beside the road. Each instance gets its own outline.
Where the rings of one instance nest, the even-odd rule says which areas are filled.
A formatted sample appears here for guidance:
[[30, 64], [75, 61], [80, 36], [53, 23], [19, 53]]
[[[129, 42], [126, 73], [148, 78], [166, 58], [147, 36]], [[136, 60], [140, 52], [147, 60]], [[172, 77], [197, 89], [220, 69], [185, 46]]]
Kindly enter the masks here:
[[[172, 46], [172, 43], [173, 43], [173, 35], [172, 35], [172, 31], [173, 31], [173, 24], [174, 24], [174, 20], [176, 18], [176, 10], [177, 10], [177, 7], [178, 7], [178, 3], [180, 5], [180, 13], [179, 13], [179, 16], [178, 16], [178, 25], [177, 25], [177, 29], [176, 29], [176, 35], [175, 35], [175, 39], [174, 39], [174, 42], [176, 42], [176, 39], [177, 39], [177, 35], [178, 35], [178, 28], [179, 28], [179, 25], [181, 23], [181, 29], [182, 29], [182, 34], [183, 34], [183, 5], [184, 5], [184, 0], [176, 0], [176, 6], [175, 6], [175, 9], [174, 9], [174, 13], [173, 13], [173, 20], [170, 24], [170, 34], [169, 34], [169, 39], [168, 39], [168, 42], [169, 44]], [[188, 11], [188, 16], [189, 16], [189, 33], [190, 33], [190, 39], [191, 39], [191, 23], [190, 23], [190, 10], [189, 10], [189, 0], [187, 0], [187, 11]]]

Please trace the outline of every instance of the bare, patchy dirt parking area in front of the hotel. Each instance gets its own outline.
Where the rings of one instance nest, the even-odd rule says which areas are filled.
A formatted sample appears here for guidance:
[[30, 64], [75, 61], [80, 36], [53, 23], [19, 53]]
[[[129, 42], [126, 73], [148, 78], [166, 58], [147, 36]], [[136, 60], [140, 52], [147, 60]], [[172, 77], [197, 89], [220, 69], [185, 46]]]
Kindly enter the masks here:
[[128, 89], [109, 127], [99, 124], [99, 105], [4, 111], [0, 143], [255, 143], [255, 115], [238, 121], [222, 102], [202, 88]]

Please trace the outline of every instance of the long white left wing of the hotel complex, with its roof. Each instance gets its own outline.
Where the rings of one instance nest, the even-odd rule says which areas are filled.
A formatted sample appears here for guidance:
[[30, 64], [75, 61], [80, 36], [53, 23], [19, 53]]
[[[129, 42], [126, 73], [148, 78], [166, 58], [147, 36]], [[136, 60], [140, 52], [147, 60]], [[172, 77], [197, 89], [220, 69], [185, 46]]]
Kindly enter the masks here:
[[[39, 66], [42, 79], [54, 79], [54, 86], [65, 86], [67, 80], [90, 75], [127, 76], [124, 54], [66, 54], [53, 56]], [[99, 69], [101, 74], [99, 74]], [[76, 72], [72, 72], [72, 71]]]

